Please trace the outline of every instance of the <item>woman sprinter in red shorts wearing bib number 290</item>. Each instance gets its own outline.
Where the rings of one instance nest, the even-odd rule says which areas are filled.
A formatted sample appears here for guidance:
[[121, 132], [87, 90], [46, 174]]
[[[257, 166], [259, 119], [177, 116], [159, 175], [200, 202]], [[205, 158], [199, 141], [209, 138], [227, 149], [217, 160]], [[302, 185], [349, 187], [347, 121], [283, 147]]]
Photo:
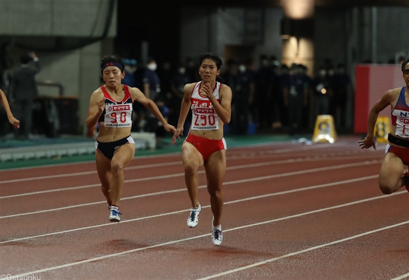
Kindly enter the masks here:
[[176, 143], [176, 137], [180, 140], [180, 135], [183, 135], [183, 126], [191, 107], [192, 125], [182, 145], [185, 182], [192, 202], [187, 224], [189, 227], [195, 227], [199, 222], [201, 206], [197, 194], [197, 170], [204, 165], [213, 212], [212, 241], [213, 244], [220, 245], [223, 240], [220, 220], [224, 202], [221, 187], [226, 170], [223, 124], [230, 122], [232, 90], [229, 86], [216, 81], [222, 65], [218, 56], [211, 53], [203, 54], [199, 57], [199, 62], [199, 75], [202, 80], [185, 85], [185, 96], [172, 143]]

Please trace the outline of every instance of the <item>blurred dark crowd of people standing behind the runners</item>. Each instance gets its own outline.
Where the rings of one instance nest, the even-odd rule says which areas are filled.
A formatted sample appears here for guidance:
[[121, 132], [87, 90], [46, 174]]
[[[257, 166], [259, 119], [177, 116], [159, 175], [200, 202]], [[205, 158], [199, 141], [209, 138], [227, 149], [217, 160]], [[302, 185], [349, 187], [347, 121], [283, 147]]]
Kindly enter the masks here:
[[[187, 59], [174, 67], [170, 62], [157, 64], [149, 58], [145, 67], [134, 59], [125, 59], [124, 84], [140, 88], [152, 99], [168, 122], [177, 125], [184, 86], [200, 80], [199, 65]], [[298, 137], [312, 132], [317, 115], [334, 116], [337, 129], [346, 128], [346, 107], [350, 77], [345, 65], [326, 61], [316, 77], [307, 75], [302, 64], [281, 64], [275, 56], [262, 55], [259, 67], [253, 60], [229, 59], [218, 80], [231, 87], [232, 121], [226, 132], [254, 134], [280, 132]], [[165, 135], [156, 118], [135, 103], [133, 131]], [[190, 116], [190, 114], [188, 115]], [[189, 118], [189, 117], [188, 117]], [[190, 119], [185, 123], [185, 131]]]

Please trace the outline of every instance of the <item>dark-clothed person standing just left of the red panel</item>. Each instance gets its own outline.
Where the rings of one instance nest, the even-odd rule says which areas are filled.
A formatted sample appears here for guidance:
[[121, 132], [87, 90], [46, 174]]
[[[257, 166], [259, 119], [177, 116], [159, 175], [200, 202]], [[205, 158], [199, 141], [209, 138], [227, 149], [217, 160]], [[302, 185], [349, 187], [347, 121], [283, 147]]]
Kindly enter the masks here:
[[350, 78], [344, 64], [338, 64], [335, 72], [334, 104], [335, 123], [337, 128], [346, 128], [346, 110], [348, 101], [348, 87]]

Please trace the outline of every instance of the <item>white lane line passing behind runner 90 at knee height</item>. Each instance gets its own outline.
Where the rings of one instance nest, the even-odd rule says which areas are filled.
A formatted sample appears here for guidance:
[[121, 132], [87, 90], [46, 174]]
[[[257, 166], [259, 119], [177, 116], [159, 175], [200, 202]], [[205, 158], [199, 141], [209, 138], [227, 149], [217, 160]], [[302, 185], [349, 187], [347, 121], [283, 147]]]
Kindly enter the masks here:
[[[311, 147], [311, 146], [309, 146], [309, 147]], [[319, 146], [311, 147], [311, 149], [320, 149], [320, 148], [326, 148], [326, 146], [319, 145]], [[306, 150], [306, 147], [288, 148], [288, 149], [280, 149], [280, 150], [270, 150], [270, 151], [265, 151], [265, 153], [263, 153], [263, 152], [259, 152], [259, 153], [262, 153], [263, 155], [265, 155], [266, 153], [267, 154], [274, 154], [274, 153], [283, 153], [283, 152], [286, 152], [286, 151], [297, 151], [297, 150]], [[257, 158], [256, 155], [253, 155], [252, 157]], [[131, 166], [131, 167], [126, 167], [125, 170], [143, 169], [143, 168], [152, 168], [152, 167], [162, 167], [162, 166], [172, 166], [172, 165], [179, 165], [179, 164], [181, 165], [181, 160], [171, 161], [171, 162], [162, 162], [162, 163], [159, 163], [159, 164]], [[61, 178], [61, 177], [71, 177], [71, 176], [81, 176], [81, 175], [89, 175], [89, 174], [96, 174], [96, 173], [97, 173], [97, 171], [86, 171], [86, 172], [76, 172], [76, 173], [67, 173], [67, 174], [58, 174], [58, 175], [49, 175], [49, 176], [40, 176], [40, 177], [21, 178], [21, 179], [0, 181], [0, 184], [22, 182], [22, 181], [31, 181], [31, 180], [43, 180], [43, 179], [51, 179], [51, 178]]]

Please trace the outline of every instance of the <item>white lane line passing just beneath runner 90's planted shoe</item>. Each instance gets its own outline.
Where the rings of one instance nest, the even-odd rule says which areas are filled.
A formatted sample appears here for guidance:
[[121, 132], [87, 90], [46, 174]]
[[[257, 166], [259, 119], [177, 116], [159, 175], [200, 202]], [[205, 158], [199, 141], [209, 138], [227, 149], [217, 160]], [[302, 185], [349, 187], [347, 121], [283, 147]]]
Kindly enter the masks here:
[[[361, 178], [350, 179], [350, 180], [345, 180], [345, 181], [339, 181], [339, 182], [333, 182], [333, 183], [327, 183], [327, 184], [321, 184], [321, 185], [307, 186], [307, 187], [305, 187], [305, 188], [300, 188], [300, 189], [293, 189], [293, 190], [283, 191], [283, 192], [278, 192], [278, 193], [271, 193], [271, 194], [265, 194], [265, 195], [260, 195], [260, 196], [248, 197], [248, 198], [243, 198], [243, 199], [237, 199], [237, 200], [233, 200], [233, 201], [224, 202], [224, 204], [232, 204], [232, 203], [243, 202], [243, 201], [248, 201], [248, 200], [253, 200], [253, 199], [266, 198], [266, 197], [270, 197], [270, 196], [277, 196], [277, 195], [284, 195], [284, 194], [296, 193], [296, 192], [301, 192], [301, 191], [308, 191], [308, 190], [313, 190], [313, 189], [320, 189], [320, 188], [325, 188], [325, 187], [327, 187], [327, 186], [333, 186], [333, 185], [338, 185], [338, 184], [353, 183], [353, 182], [358, 182], [358, 181], [363, 181], [363, 180], [374, 179], [374, 178], [377, 178], [377, 177], [378, 177], [378, 175], [373, 175], [373, 176], [361, 177]], [[199, 188], [206, 188], [206, 185], [200, 186]], [[179, 191], [179, 190], [175, 190], [175, 191]], [[186, 189], [180, 189], [180, 191], [186, 191]], [[102, 201], [102, 203], [104, 203], [104, 202], [105, 202], [105, 201]], [[210, 207], [210, 205], [202, 206], [202, 208], [208, 208], [208, 207]], [[176, 212], [163, 213], [163, 214], [158, 214], [158, 215], [153, 215], [153, 216], [147, 216], [147, 217], [141, 217], [141, 218], [135, 218], [135, 219], [129, 219], [129, 220], [122, 220], [122, 221], [121, 221], [121, 224], [122, 224], [122, 223], [127, 223], [127, 222], [133, 222], [133, 221], [144, 220], [144, 219], [162, 217], [162, 216], [167, 216], [167, 215], [173, 215], [173, 214], [178, 214], [178, 213], [183, 213], [183, 212], [188, 212], [188, 211], [190, 211], [190, 209], [180, 210], [180, 211], [176, 211]], [[64, 233], [66, 233], [66, 232], [77, 231], [77, 230], [83, 230], [83, 229], [88, 229], [88, 228], [95, 228], [95, 227], [101, 227], [101, 226], [109, 226], [109, 225], [112, 225], [112, 224], [113, 224], [113, 223], [106, 223], [106, 224], [101, 224], [101, 225], [94, 225], [94, 226], [87, 226], [87, 227], [81, 227], [81, 228], [74, 228], [74, 229], [69, 229], [69, 230], [57, 231], [57, 232], [52, 232], [52, 233], [50, 233], [50, 234], [43, 234], [43, 235], [37, 235], [37, 236], [31, 236], [31, 237], [17, 238], [17, 239], [2, 241], [2, 242], [0, 242], [0, 244], [9, 243], [9, 242], [15, 242], [15, 241], [21, 241], [21, 240], [26, 240], [26, 239], [32, 239], [32, 238], [37, 238], [37, 237], [44, 237], [44, 236], [64, 234]]]

